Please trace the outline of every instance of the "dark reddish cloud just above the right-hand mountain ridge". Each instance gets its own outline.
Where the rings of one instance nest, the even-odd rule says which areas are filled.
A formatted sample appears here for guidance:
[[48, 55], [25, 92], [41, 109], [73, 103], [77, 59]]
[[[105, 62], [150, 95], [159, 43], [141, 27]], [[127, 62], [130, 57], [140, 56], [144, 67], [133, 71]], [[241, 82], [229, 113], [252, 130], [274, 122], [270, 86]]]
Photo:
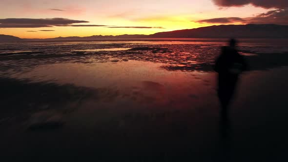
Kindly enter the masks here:
[[267, 24], [267, 23], [274, 23], [280, 25], [288, 25], [288, 9], [276, 9], [272, 11], [268, 11], [266, 13], [259, 14], [254, 17], [249, 18], [214, 18], [214, 19], [207, 19], [207, 20], [198, 20], [195, 21], [198, 23], [235, 23], [241, 22], [244, 24], [254, 23], [254, 24]]

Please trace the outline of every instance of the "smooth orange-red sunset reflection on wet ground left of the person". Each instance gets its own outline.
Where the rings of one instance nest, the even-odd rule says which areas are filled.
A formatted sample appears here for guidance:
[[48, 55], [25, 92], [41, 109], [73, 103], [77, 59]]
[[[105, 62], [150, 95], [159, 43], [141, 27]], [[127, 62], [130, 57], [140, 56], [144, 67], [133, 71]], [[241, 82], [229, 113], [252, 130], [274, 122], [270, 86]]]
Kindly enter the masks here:
[[161, 68], [163, 65], [144, 61], [58, 63], [41, 65], [13, 77], [109, 89], [117, 94], [114, 106], [117, 101], [126, 101], [157, 108], [191, 108], [214, 88], [212, 73], [167, 71]]

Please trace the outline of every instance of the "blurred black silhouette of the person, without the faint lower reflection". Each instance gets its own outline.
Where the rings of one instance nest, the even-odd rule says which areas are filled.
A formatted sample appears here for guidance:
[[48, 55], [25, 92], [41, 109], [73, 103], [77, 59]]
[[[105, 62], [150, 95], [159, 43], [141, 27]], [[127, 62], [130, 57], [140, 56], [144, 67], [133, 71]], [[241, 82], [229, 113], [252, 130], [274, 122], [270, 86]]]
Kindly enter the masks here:
[[247, 63], [237, 52], [236, 40], [231, 39], [229, 46], [222, 47], [221, 55], [217, 58], [214, 70], [218, 75], [218, 97], [221, 104], [221, 119], [228, 124], [228, 106], [233, 97], [238, 76], [247, 70]]

